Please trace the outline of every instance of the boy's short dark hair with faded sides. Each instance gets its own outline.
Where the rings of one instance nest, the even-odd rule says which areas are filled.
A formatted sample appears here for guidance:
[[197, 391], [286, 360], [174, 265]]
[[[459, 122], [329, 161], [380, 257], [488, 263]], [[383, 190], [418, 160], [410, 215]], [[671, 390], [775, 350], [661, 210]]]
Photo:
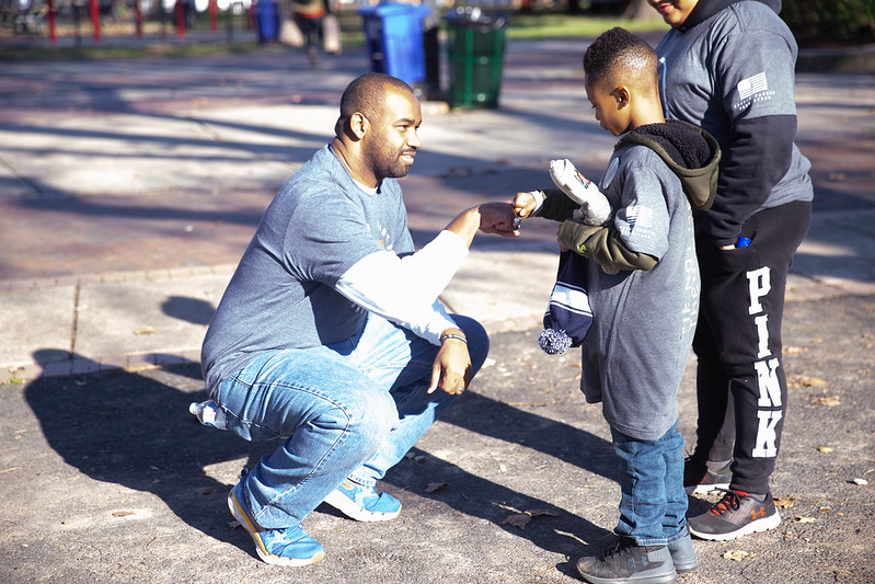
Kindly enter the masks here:
[[657, 68], [653, 47], [619, 26], [599, 35], [584, 53], [584, 75], [594, 87], [643, 82], [655, 89]]

